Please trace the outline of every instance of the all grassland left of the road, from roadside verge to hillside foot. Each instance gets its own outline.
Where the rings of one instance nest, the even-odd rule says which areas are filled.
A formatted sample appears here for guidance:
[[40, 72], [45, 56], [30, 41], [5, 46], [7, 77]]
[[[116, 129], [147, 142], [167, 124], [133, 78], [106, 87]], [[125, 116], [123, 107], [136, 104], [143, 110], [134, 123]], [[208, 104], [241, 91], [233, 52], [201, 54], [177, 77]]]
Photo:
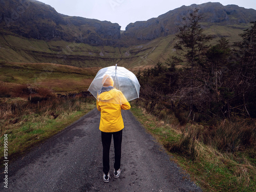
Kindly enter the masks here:
[[[87, 91], [98, 68], [6, 62], [0, 68], [0, 153], [4, 154], [3, 136], [8, 134], [11, 160], [95, 108], [94, 97], [83, 98], [79, 93]], [[58, 93], [78, 95], [58, 98]], [[28, 100], [30, 96], [47, 100], [40, 101], [38, 108], [37, 101]]]

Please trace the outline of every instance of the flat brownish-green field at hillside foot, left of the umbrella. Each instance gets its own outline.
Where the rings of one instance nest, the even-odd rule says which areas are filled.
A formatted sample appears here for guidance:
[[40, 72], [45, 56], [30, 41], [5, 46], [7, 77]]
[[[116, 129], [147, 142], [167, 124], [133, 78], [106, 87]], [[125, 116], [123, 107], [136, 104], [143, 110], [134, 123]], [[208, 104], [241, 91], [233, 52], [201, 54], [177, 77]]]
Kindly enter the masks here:
[[52, 63], [0, 63], [0, 67], [0, 81], [8, 87], [31, 84], [55, 92], [86, 91], [98, 71]]

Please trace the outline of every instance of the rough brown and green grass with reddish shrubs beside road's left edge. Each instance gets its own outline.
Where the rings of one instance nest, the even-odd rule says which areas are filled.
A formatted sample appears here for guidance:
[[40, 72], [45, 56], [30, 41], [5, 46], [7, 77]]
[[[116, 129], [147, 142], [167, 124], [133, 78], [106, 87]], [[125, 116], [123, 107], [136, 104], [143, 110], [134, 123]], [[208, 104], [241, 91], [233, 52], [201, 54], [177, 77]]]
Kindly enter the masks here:
[[38, 88], [37, 94], [46, 99], [30, 102], [25, 93], [23, 98], [0, 99], [0, 152], [3, 153], [3, 135], [8, 134], [11, 160], [95, 108], [94, 97], [49, 97], [51, 90], [45, 88]]

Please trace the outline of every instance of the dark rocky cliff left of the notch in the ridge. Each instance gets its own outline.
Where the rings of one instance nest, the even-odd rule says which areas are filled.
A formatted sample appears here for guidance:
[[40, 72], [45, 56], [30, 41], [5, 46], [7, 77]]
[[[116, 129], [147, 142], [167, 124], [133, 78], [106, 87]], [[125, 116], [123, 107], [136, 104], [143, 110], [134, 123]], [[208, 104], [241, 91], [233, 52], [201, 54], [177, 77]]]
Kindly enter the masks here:
[[0, 16], [0, 28], [28, 38], [84, 42], [93, 46], [113, 46], [120, 38], [118, 24], [62, 15], [34, 0], [2, 0]]

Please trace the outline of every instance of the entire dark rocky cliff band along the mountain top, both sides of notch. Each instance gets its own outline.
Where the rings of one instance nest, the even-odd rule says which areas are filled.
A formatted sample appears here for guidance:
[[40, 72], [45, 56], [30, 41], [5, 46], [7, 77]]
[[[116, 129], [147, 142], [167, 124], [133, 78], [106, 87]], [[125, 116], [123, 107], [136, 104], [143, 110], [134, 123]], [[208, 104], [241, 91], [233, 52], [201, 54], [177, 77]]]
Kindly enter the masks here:
[[[120, 34], [120, 26], [96, 19], [72, 17], [35, 0], [0, 0], [0, 30], [27, 38], [83, 42], [91, 46], [129, 47], [177, 33], [183, 17], [195, 9], [203, 14], [202, 27], [240, 27], [256, 20], [256, 10], [220, 3], [182, 6], [157, 18], [131, 23]], [[236, 25], [236, 26], [235, 26]], [[241, 28], [242, 29], [242, 28]]]

